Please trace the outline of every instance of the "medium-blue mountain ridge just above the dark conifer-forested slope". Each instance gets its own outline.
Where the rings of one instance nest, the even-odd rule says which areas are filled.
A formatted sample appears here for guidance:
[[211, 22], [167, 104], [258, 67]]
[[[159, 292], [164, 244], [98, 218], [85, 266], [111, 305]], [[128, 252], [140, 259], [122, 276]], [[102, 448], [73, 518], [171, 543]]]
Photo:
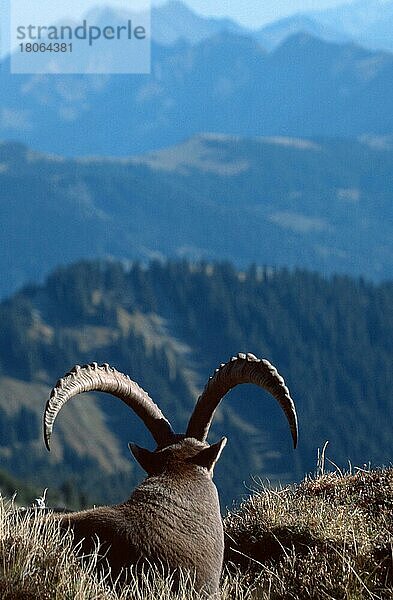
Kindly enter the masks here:
[[393, 276], [393, 145], [201, 135], [124, 159], [0, 145], [1, 294], [79, 258]]

